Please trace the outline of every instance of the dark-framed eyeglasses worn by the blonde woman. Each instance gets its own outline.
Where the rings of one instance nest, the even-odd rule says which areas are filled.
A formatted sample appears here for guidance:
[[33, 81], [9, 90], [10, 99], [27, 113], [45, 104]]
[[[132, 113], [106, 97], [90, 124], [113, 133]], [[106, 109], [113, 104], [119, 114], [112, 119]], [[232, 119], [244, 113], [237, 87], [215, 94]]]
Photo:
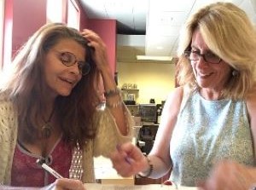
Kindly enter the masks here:
[[191, 61], [198, 61], [202, 57], [206, 62], [212, 64], [220, 63], [221, 59], [218, 55], [207, 52], [206, 54], [201, 54], [199, 51], [184, 51], [183, 55]]

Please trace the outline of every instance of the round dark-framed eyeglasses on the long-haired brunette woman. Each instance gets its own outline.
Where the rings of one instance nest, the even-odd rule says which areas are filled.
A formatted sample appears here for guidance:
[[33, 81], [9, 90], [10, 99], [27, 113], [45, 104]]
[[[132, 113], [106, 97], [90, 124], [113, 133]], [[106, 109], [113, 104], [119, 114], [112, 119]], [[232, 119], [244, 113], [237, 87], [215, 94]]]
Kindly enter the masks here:
[[64, 66], [73, 66], [78, 63], [79, 72], [82, 75], [87, 75], [90, 72], [90, 64], [86, 61], [77, 60], [76, 55], [70, 52], [58, 52], [58, 58]]

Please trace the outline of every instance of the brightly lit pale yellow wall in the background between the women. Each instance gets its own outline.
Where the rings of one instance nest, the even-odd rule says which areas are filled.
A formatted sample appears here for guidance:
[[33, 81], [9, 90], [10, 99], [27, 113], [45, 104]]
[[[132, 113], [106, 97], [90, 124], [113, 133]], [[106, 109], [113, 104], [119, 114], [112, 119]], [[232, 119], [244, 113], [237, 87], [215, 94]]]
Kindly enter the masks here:
[[137, 83], [137, 103], [166, 101], [175, 86], [175, 65], [164, 63], [118, 63], [119, 88], [124, 83]]

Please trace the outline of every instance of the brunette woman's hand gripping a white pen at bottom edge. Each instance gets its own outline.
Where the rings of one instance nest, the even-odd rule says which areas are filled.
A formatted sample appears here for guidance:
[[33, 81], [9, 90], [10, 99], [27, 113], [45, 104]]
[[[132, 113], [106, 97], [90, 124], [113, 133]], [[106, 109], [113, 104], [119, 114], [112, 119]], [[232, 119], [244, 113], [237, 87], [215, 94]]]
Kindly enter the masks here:
[[86, 190], [82, 181], [61, 178], [42, 190]]

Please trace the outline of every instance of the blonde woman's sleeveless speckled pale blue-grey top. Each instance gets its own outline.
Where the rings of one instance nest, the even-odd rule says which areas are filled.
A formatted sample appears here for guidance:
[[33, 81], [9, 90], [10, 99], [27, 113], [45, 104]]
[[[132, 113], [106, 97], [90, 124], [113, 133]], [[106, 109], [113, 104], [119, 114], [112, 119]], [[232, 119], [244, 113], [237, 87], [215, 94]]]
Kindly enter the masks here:
[[224, 158], [256, 165], [245, 101], [207, 101], [198, 92], [183, 99], [170, 141], [172, 181], [195, 187]]

